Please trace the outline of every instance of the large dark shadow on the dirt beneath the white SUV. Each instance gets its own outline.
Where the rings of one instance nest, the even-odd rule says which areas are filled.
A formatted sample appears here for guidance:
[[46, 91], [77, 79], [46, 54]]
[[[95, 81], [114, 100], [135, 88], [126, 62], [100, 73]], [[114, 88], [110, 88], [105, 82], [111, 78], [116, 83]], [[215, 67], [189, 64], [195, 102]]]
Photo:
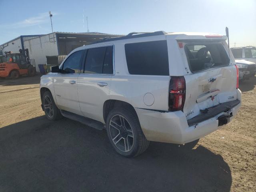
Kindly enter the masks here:
[[151, 142], [136, 158], [114, 152], [105, 131], [44, 116], [0, 128], [0, 191], [221, 191], [230, 168], [198, 146]]

